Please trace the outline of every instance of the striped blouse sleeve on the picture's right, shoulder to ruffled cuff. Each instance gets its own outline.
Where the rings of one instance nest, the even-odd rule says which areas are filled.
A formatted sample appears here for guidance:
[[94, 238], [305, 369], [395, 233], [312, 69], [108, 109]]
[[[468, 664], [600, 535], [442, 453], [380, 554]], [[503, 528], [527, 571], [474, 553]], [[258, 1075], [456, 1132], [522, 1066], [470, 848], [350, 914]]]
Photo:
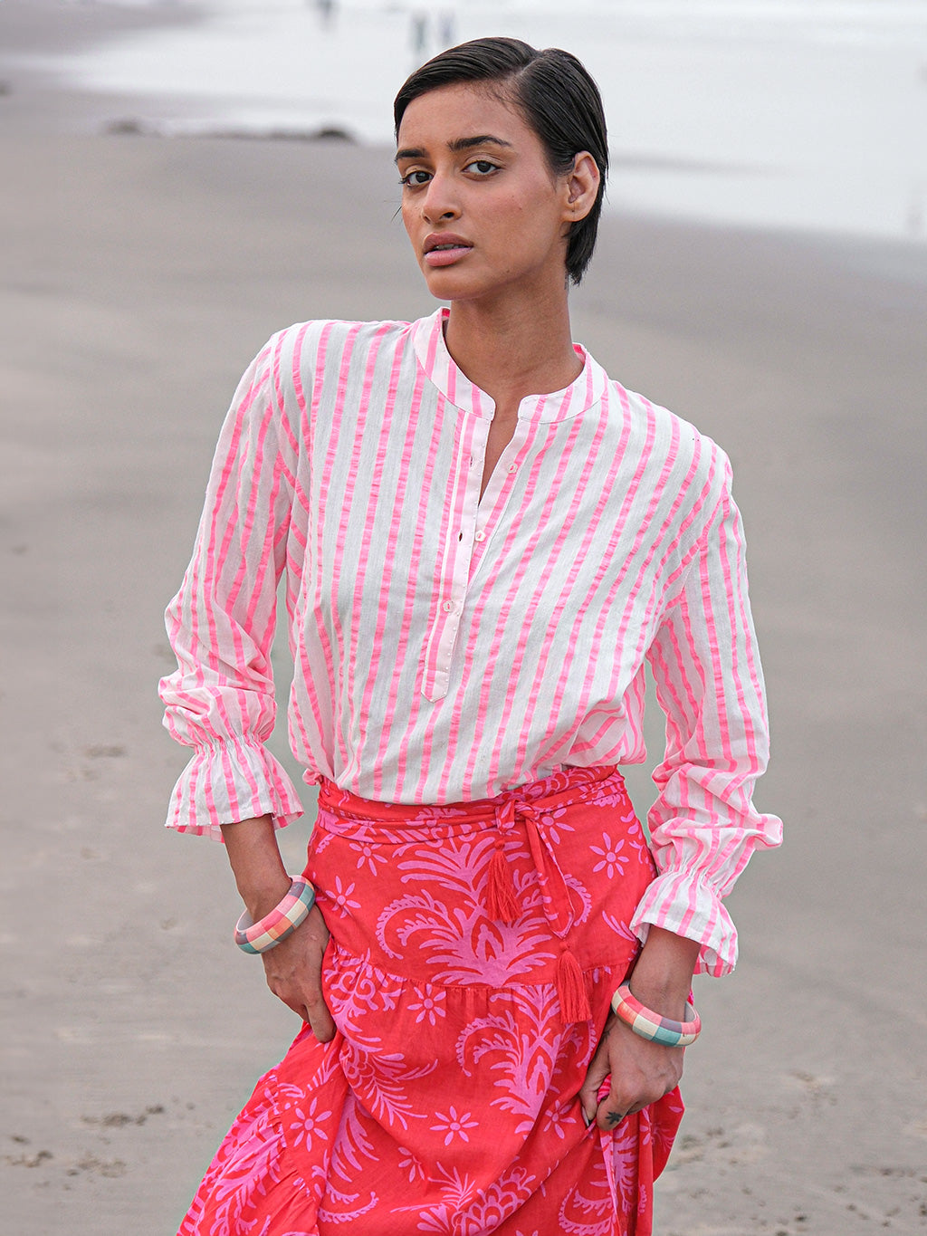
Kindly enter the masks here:
[[781, 821], [753, 806], [769, 758], [763, 671], [747, 597], [730, 468], [717, 509], [670, 599], [648, 654], [666, 714], [666, 753], [649, 815], [658, 878], [633, 920], [698, 941], [697, 973], [727, 974], [737, 933], [722, 899]]

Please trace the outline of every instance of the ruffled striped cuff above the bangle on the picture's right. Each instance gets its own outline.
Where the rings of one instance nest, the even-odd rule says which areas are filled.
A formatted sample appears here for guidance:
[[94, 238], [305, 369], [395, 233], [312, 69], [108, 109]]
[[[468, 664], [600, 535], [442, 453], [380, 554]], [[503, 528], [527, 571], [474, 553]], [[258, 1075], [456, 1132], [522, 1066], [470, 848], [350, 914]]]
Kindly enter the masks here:
[[667, 871], [649, 885], [630, 921], [641, 943], [650, 925], [701, 944], [696, 974], [721, 978], [737, 964], [737, 931], [717, 891], [705, 880]]

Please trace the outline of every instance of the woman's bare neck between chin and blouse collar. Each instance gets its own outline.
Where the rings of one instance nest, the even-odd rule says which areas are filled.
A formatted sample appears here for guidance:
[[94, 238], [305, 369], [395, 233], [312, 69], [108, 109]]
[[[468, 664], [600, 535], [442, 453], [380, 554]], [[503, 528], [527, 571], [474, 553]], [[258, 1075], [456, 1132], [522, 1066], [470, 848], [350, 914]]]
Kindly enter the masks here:
[[498, 409], [517, 409], [529, 394], [562, 391], [582, 372], [565, 290], [546, 305], [455, 300], [445, 342], [455, 363]]

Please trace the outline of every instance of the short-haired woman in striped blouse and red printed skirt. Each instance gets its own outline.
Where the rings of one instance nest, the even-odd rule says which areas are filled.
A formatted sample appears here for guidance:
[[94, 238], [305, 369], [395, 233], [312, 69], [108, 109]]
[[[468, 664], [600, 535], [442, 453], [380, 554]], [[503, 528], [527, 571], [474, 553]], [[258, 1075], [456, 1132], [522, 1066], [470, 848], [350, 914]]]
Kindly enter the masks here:
[[[169, 823], [221, 836], [236, 939], [305, 1026], [182, 1234], [650, 1231], [695, 970], [779, 821], [722, 451], [571, 341], [607, 169], [571, 56], [492, 38], [396, 100], [418, 323], [276, 335], [168, 611]], [[262, 745], [287, 576], [300, 813]], [[616, 765], [667, 717], [651, 843]], [[314, 897], [314, 904], [313, 904]]]

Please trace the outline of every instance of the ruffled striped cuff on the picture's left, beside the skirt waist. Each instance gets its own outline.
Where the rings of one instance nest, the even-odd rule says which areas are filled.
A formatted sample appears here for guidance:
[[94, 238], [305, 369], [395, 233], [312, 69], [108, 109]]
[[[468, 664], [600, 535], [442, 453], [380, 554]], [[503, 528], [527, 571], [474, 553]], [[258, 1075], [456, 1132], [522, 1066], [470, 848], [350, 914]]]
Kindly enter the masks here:
[[283, 828], [302, 815], [283, 765], [260, 743], [227, 739], [198, 748], [174, 786], [167, 827], [221, 840], [220, 824], [273, 816]]

